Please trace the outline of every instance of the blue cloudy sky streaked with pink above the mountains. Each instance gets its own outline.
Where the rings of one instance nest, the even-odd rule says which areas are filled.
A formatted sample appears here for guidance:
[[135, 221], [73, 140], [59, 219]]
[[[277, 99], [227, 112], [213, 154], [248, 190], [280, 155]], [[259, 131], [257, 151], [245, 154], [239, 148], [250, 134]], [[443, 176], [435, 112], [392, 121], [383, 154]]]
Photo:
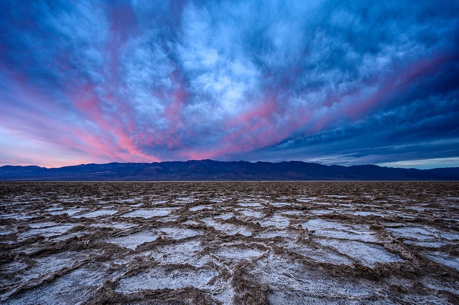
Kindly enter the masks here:
[[459, 2], [0, 2], [0, 165], [459, 166]]

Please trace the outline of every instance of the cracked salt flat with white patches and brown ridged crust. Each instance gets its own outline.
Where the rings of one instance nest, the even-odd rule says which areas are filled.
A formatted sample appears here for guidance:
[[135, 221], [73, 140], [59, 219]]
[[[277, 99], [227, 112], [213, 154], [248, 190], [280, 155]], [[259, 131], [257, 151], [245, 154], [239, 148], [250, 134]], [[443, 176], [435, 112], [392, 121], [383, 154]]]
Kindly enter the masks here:
[[458, 182], [0, 182], [0, 299], [458, 304], [458, 221]]

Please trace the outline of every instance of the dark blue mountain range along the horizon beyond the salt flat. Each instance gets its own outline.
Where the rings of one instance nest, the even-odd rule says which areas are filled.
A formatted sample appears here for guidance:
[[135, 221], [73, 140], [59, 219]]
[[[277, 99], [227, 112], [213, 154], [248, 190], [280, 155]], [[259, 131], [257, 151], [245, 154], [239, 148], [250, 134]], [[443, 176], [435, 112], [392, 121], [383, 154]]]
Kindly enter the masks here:
[[321, 165], [302, 161], [222, 162], [213, 160], [153, 163], [82, 164], [60, 168], [0, 167], [0, 180], [459, 180], [459, 167], [405, 169], [377, 165]]

